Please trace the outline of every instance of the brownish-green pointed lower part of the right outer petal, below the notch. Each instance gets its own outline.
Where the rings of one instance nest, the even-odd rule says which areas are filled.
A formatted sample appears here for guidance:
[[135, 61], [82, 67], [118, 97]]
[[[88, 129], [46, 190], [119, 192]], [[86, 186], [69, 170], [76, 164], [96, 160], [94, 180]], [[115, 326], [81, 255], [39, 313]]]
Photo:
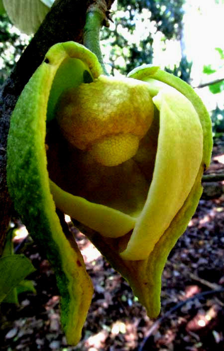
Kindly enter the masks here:
[[[156, 243], [151, 254], [144, 260], [122, 259], [119, 254], [120, 242], [117, 239], [102, 236], [89, 229], [86, 231], [85, 227], [81, 227], [82, 232], [88, 235], [102, 255], [112, 264], [112, 267], [127, 280], [134, 295], [146, 308], [147, 315], [150, 318], [156, 318], [159, 314], [162, 271], [168, 254], [186, 230], [191, 217], [195, 213], [202, 194], [202, 174], [203, 167], [201, 166], [195, 184], [184, 205]], [[125, 239], [128, 240], [129, 236], [128, 234], [126, 238], [124, 237], [124, 241]]]

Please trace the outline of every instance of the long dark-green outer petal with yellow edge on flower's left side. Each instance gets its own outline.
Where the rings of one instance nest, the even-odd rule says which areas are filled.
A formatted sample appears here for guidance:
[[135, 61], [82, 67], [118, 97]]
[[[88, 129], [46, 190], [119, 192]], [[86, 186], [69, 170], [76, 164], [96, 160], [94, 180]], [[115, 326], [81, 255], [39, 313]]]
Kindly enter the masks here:
[[82, 58], [82, 54], [90, 63], [90, 72], [97, 77], [97, 58], [82, 45], [59, 43], [48, 51], [46, 62], [36, 70], [18, 99], [7, 145], [9, 194], [23, 223], [44, 247], [53, 265], [61, 295], [61, 322], [68, 343], [73, 345], [81, 337], [93, 287], [78, 247], [72, 247], [66, 239], [55, 212], [49, 188], [45, 134], [47, 102], [54, 76], [68, 56]]

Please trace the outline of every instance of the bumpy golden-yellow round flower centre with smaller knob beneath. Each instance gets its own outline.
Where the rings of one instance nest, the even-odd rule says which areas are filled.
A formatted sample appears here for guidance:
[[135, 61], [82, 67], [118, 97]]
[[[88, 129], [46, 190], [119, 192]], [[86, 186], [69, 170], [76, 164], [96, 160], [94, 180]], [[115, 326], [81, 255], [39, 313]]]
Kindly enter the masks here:
[[66, 91], [56, 108], [69, 143], [105, 166], [116, 166], [135, 155], [153, 116], [148, 85], [132, 78], [100, 76]]

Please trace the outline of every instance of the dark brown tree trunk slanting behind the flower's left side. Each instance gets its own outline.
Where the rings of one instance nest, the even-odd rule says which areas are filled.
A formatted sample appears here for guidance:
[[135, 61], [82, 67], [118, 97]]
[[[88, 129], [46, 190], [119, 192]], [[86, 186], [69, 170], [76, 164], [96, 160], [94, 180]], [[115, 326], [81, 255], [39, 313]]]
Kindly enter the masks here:
[[[106, 0], [108, 10], [113, 1]], [[6, 186], [6, 143], [11, 113], [25, 84], [53, 44], [68, 40], [82, 43], [86, 11], [93, 2], [55, 1], [0, 91], [0, 254], [12, 208]]]

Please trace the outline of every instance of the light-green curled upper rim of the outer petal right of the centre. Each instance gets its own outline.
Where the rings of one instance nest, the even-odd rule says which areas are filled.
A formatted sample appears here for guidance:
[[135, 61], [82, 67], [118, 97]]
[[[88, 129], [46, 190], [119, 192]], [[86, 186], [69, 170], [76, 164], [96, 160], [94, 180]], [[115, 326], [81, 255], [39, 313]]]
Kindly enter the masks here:
[[144, 82], [147, 82], [147, 80], [150, 79], [161, 81], [175, 88], [184, 96], [186, 96], [188, 100], [190, 100], [202, 124], [204, 135], [202, 162], [204, 163], [204, 168], [208, 168], [211, 162], [211, 154], [213, 148], [212, 121], [205, 105], [203, 104], [200, 97], [195, 93], [194, 89], [189, 84], [182, 81], [180, 78], [160, 70], [159, 67], [153, 67], [150, 65], [144, 65], [135, 68], [128, 73], [127, 77], [139, 79]]

